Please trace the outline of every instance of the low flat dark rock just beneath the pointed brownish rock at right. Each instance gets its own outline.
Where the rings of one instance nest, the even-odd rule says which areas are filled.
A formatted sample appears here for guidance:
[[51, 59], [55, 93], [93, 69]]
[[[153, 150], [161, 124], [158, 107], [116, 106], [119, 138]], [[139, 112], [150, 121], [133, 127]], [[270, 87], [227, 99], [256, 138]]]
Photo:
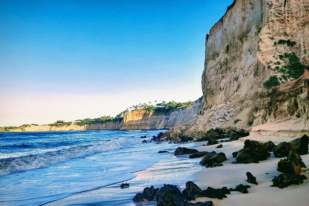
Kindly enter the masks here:
[[272, 182], [273, 185], [270, 187], [279, 187], [284, 188], [292, 184], [298, 185], [302, 184], [304, 179], [307, 179], [305, 175], [300, 174], [279, 174], [278, 177], [275, 177]]

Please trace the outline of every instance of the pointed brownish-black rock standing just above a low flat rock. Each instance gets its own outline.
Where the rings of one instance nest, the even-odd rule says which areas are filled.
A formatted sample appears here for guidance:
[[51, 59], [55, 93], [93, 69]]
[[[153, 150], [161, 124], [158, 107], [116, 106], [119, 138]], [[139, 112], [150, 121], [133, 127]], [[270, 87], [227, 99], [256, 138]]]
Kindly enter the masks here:
[[300, 174], [302, 167], [306, 167], [302, 158], [298, 153], [291, 150], [286, 159], [281, 159], [278, 162], [277, 171], [287, 174]]

